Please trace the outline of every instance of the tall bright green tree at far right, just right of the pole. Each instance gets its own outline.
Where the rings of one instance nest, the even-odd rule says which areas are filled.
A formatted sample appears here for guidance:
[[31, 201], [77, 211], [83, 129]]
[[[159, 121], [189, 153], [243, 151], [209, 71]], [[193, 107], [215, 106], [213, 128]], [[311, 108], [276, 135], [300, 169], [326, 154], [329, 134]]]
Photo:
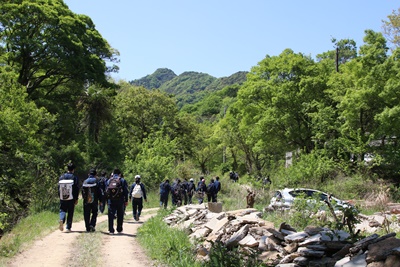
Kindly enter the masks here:
[[340, 74], [332, 75], [329, 83], [330, 97], [338, 103], [337, 146], [347, 155], [354, 154], [359, 162], [374, 150], [371, 143], [381, 138], [376, 116], [384, 108], [380, 95], [387, 80], [386, 40], [381, 33], [365, 33], [359, 57], [347, 63]]

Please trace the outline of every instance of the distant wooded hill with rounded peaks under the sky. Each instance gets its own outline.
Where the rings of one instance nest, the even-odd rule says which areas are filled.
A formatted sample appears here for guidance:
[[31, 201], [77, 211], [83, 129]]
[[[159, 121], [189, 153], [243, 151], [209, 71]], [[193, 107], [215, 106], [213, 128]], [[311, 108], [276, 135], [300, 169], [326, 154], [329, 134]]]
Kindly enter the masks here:
[[209, 74], [187, 71], [176, 75], [172, 70], [157, 69], [153, 74], [133, 80], [132, 85], [143, 86], [147, 89], [159, 89], [160, 91], [174, 95], [178, 106], [199, 102], [212, 92], [219, 91], [226, 86], [242, 84], [246, 81], [245, 71], [232, 74], [229, 77], [215, 78]]

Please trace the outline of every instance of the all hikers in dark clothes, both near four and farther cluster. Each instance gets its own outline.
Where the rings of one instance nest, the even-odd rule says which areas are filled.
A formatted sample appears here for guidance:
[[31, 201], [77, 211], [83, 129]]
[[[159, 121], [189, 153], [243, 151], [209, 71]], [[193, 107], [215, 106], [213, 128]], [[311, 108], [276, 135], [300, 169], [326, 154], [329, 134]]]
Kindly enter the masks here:
[[[197, 185], [193, 178], [188, 181], [176, 178], [170, 185], [166, 179], [160, 184], [160, 207], [167, 208], [169, 195], [171, 194], [172, 205], [181, 206], [192, 204], [193, 198], [197, 198], [199, 204], [207, 197], [208, 202], [217, 202], [218, 193], [221, 191], [219, 177], [210, 179], [206, 184], [204, 176], [200, 176]], [[110, 176], [101, 172], [100, 177], [96, 169], [90, 169], [88, 177], [79, 186], [79, 179], [75, 174], [75, 165], [69, 163], [67, 172], [60, 176], [58, 181], [58, 192], [60, 196], [60, 231], [71, 232], [75, 206], [78, 204], [79, 193], [83, 199], [83, 215], [87, 232], [96, 231], [97, 216], [104, 213], [105, 206], [108, 207], [108, 232], [114, 234], [123, 231], [123, 220], [128, 202], [132, 203], [132, 215], [139, 221], [143, 209], [143, 201], [147, 201], [146, 187], [141, 182], [140, 175], [135, 176], [135, 182], [128, 186], [123, 174], [119, 169], [114, 169]], [[117, 221], [116, 229], [114, 220]]]

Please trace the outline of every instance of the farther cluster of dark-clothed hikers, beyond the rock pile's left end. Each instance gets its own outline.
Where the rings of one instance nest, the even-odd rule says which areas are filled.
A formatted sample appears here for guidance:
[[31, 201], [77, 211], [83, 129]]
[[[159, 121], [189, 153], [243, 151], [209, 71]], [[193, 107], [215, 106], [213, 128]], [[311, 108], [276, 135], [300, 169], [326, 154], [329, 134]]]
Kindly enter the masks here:
[[176, 178], [172, 184], [169, 179], [166, 179], [160, 184], [160, 206], [168, 207], [170, 194], [172, 205], [178, 207], [192, 204], [193, 197], [197, 198], [199, 204], [203, 203], [205, 197], [208, 202], [217, 202], [219, 191], [221, 191], [221, 182], [218, 176], [215, 177], [215, 180], [211, 179], [208, 185], [206, 185], [204, 176], [200, 176], [197, 185], [193, 178], [190, 178], [189, 181], [186, 178], [183, 180]]

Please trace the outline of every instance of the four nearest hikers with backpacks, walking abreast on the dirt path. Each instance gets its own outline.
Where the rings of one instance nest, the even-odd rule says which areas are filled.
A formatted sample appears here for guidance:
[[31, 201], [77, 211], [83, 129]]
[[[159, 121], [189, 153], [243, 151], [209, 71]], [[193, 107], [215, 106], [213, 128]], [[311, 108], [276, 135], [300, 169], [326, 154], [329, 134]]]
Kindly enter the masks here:
[[[101, 172], [100, 177], [97, 171], [91, 169], [88, 178], [83, 181], [82, 188], [79, 187], [79, 179], [75, 175], [75, 165], [69, 163], [67, 172], [61, 175], [58, 182], [60, 195], [60, 231], [71, 232], [72, 220], [75, 206], [78, 204], [79, 192], [83, 198], [83, 215], [87, 232], [96, 230], [98, 212], [104, 212], [108, 207], [108, 232], [114, 234], [123, 231], [123, 220], [128, 201], [132, 203], [132, 214], [136, 221], [139, 221], [143, 209], [143, 201], [147, 201], [146, 188], [141, 183], [140, 175], [135, 176], [135, 182], [128, 187], [119, 169], [114, 169], [107, 177], [106, 172]], [[116, 229], [114, 220], [117, 220]]]

